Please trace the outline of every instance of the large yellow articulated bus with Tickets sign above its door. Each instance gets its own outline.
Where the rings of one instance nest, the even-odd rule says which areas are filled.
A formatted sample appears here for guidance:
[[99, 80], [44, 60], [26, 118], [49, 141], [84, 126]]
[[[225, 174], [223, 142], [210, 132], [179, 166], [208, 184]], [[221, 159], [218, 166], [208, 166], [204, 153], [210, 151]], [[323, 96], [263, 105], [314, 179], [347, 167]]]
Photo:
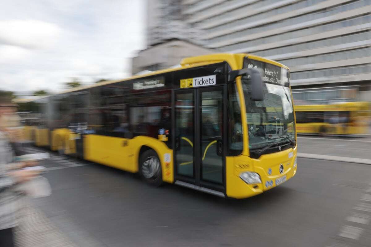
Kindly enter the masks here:
[[247, 198], [296, 173], [288, 67], [250, 54], [44, 97], [25, 126], [36, 146], [221, 197]]

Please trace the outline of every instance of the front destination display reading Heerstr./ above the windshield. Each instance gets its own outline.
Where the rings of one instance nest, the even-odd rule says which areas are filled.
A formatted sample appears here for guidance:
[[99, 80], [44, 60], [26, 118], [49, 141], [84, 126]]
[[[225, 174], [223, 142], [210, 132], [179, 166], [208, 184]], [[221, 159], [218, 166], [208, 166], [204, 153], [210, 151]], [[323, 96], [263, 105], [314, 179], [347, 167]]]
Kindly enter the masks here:
[[265, 83], [276, 84], [284, 87], [289, 86], [289, 72], [279, 66], [270, 63], [264, 63], [253, 59], [245, 59], [244, 68], [259, 68], [262, 71], [262, 81]]

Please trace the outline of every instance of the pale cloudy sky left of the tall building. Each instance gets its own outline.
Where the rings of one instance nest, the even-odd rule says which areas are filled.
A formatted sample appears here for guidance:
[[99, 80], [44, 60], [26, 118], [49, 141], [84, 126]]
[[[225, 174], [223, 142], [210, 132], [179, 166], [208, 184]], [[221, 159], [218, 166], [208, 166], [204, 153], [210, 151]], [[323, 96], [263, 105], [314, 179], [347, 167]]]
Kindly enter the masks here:
[[0, 89], [66, 89], [131, 75], [145, 47], [144, 0], [12, 0], [0, 8]]

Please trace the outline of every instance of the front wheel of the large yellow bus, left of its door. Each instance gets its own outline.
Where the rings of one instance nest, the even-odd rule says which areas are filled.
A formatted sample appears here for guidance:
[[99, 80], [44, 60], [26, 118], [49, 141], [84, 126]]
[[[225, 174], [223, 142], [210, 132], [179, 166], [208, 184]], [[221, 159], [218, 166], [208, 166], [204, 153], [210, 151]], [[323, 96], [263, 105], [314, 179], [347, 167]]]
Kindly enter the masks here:
[[152, 186], [157, 187], [162, 184], [161, 162], [153, 149], [144, 151], [139, 157], [139, 174]]

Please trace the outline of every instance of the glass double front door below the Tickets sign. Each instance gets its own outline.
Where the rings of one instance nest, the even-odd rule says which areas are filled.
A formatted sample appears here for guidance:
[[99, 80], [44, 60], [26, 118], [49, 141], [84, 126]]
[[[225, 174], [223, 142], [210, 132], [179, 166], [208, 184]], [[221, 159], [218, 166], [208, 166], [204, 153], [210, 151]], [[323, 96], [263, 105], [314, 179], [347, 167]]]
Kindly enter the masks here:
[[225, 86], [175, 91], [175, 183], [224, 196]]

